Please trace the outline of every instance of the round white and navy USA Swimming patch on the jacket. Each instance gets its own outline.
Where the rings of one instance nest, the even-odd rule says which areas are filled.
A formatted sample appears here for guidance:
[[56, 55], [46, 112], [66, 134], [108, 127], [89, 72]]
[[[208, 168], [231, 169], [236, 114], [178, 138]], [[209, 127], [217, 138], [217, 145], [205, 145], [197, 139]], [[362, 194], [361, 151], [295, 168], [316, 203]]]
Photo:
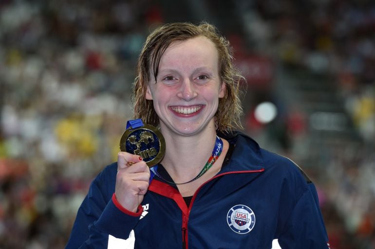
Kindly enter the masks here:
[[226, 221], [231, 230], [237, 233], [248, 233], [254, 228], [255, 214], [245, 205], [236, 205], [229, 209]]

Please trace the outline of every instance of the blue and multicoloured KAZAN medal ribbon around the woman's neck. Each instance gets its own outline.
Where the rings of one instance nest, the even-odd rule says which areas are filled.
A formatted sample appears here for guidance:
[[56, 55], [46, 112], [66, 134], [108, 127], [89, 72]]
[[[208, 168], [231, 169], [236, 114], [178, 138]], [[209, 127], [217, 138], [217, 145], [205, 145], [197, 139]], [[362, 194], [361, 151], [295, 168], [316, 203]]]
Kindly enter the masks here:
[[160, 174], [157, 172], [157, 168], [158, 168], [158, 165], [156, 164], [155, 166], [151, 167], [150, 168], [150, 171], [151, 171], [151, 177], [150, 177], [150, 182], [151, 182], [151, 179], [156, 175], [158, 178], [161, 178], [163, 179], [164, 181], [168, 182], [168, 183], [171, 183], [171, 184], [176, 184], [176, 185], [181, 185], [181, 184], [186, 184], [186, 183], [189, 183], [189, 182], [192, 182], [192, 181], [195, 181], [196, 179], [200, 178], [201, 176], [203, 176], [203, 174], [206, 173], [206, 171], [211, 168], [211, 166], [215, 163], [215, 161], [217, 160], [217, 158], [220, 156], [220, 154], [222, 153], [223, 151], [223, 140], [221, 140], [221, 138], [219, 138], [218, 136], [216, 136], [216, 141], [215, 141], [215, 146], [212, 150], [212, 155], [210, 156], [210, 158], [207, 160], [206, 162], [206, 165], [203, 167], [203, 169], [201, 170], [201, 172], [199, 172], [199, 174], [187, 181], [187, 182], [182, 182], [182, 183], [175, 183], [175, 182], [171, 182], [171, 181], [167, 181], [166, 179], [162, 178], [160, 176]]

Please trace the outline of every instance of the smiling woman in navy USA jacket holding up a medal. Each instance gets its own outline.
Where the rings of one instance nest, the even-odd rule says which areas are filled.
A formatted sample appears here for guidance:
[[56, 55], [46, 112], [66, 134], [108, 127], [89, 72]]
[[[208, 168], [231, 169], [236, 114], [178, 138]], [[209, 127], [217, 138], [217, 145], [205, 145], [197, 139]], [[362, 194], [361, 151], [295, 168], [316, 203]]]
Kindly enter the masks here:
[[134, 116], [160, 126], [165, 156], [151, 174], [141, 157], [120, 152], [94, 179], [67, 248], [110, 248], [130, 234], [135, 248], [268, 249], [274, 239], [281, 248], [328, 248], [313, 183], [233, 131], [241, 128], [241, 79], [210, 24], [150, 34]]

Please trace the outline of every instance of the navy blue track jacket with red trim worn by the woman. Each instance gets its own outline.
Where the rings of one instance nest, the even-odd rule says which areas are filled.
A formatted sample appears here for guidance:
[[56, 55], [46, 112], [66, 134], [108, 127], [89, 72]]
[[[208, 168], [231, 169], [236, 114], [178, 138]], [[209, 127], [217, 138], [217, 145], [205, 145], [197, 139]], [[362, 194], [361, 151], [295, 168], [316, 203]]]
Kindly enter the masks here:
[[[92, 182], [67, 249], [107, 249], [132, 231], [136, 249], [327, 249], [314, 184], [291, 160], [242, 133], [219, 134], [234, 144], [230, 160], [187, 207], [175, 185], [155, 176], [137, 213], [114, 197], [117, 163]], [[134, 239], [134, 238], [132, 238]]]

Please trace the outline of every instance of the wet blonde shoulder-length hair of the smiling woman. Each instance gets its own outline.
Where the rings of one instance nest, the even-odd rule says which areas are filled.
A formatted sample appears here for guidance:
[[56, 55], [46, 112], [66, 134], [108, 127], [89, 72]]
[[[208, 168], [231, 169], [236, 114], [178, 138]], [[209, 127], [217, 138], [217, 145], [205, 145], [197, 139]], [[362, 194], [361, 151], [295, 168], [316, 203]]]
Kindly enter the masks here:
[[225, 84], [225, 96], [219, 99], [219, 106], [215, 113], [216, 129], [230, 131], [243, 128], [241, 125], [243, 108], [239, 95], [242, 92], [240, 85], [244, 77], [233, 65], [233, 51], [229, 42], [219, 34], [215, 26], [206, 22], [198, 25], [187, 22], [165, 24], [147, 37], [138, 57], [137, 76], [133, 83], [132, 100], [135, 119], [142, 119], [146, 124], [159, 125], [159, 117], [153, 108], [153, 101], [145, 98], [148, 83], [154, 80], [156, 84], [160, 59], [170, 44], [197, 36], [205, 36], [213, 42], [219, 54], [219, 75], [222, 83]]

